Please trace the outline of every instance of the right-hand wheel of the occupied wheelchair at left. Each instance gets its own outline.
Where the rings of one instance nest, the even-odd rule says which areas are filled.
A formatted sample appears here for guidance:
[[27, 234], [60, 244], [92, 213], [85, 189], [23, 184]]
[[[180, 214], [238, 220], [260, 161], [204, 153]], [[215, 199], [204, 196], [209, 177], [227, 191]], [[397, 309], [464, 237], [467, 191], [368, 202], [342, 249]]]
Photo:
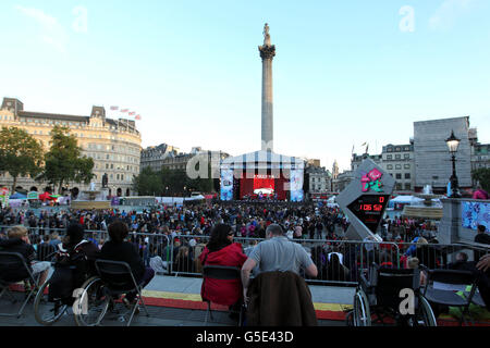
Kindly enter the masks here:
[[75, 322], [78, 326], [97, 326], [107, 313], [110, 296], [97, 276], [87, 279], [75, 303], [77, 306], [77, 310], [74, 311]]

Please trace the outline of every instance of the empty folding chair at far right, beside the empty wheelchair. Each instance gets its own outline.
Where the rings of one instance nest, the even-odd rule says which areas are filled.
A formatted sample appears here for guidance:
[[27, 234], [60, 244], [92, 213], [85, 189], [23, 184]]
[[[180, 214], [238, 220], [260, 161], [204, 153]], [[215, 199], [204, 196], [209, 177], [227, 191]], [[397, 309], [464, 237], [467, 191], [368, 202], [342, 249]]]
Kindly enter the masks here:
[[[460, 325], [463, 325], [463, 322], [467, 324], [465, 313], [474, 323], [469, 313], [469, 304], [477, 288], [475, 274], [469, 271], [456, 270], [427, 270], [427, 286], [424, 289], [427, 300], [438, 304], [460, 307], [462, 308]], [[471, 289], [466, 297], [456, 294], [457, 291], [464, 293], [468, 285], [471, 286]]]

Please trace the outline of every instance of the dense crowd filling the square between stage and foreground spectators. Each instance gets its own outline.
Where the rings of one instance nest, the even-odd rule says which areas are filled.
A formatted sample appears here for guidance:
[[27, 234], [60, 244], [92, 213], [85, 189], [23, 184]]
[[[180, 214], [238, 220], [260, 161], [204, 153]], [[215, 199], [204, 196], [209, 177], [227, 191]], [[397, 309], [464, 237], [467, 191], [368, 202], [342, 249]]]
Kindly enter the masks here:
[[[258, 240], [266, 238], [266, 229], [279, 224], [289, 239], [301, 243], [319, 270], [317, 279], [355, 282], [357, 270], [365, 262], [376, 260], [382, 265], [407, 268], [409, 258], [434, 266], [446, 265], [444, 252], [434, 246], [437, 225], [430, 221], [383, 219], [379, 234], [383, 244], [351, 244], [344, 237], [348, 222], [335, 208], [315, 204], [195, 204], [160, 206], [136, 211], [113, 210], [40, 210], [2, 209], [0, 211], [0, 238], [5, 237], [7, 226], [25, 225], [36, 233], [32, 243], [39, 261], [61, 243], [65, 226], [77, 222], [86, 237], [99, 249], [108, 239], [100, 233], [114, 221], [128, 226], [130, 241], [138, 249], [146, 266], [159, 273], [170, 270], [181, 274], [199, 274], [199, 256], [209, 240], [211, 229], [219, 223], [228, 224], [235, 238], [253, 238], [242, 243], [248, 254]], [[155, 237], [152, 235], [156, 235]], [[366, 240], [369, 241], [369, 240]], [[414, 244], [426, 241], [432, 248], [414, 249]], [[412, 244], [412, 245], [407, 245]], [[363, 250], [360, 250], [363, 249]], [[414, 250], [418, 251], [415, 254]], [[429, 250], [429, 251], [427, 251]], [[363, 252], [362, 252], [363, 251]]]

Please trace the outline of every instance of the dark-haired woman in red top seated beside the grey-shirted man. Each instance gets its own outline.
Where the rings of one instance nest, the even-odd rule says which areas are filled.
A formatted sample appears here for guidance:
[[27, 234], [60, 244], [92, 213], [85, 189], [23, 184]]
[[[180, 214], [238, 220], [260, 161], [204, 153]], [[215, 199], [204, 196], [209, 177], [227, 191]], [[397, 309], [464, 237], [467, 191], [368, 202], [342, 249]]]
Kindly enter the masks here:
[[[229, 225], [217, 224], [208, 245], [199, 256], [204, 265], [226, 265], [242, 269], [247, 260], [242, 245], [233, 243], [233, 231]], [[233, 306], [242, 300], [242, 281], [205, 278], [200, 288], [203, 300], [209, 300], [223, 306]]]

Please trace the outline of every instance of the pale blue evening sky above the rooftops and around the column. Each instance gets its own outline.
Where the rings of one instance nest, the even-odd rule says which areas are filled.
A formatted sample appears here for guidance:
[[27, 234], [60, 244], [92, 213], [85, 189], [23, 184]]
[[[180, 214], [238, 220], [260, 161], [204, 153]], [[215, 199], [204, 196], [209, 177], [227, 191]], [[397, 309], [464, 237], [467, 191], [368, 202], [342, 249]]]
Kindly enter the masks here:
[[128, 108], [144, 147], [255, 151], [266, 22], [277, 152], [348, 169], [353, 146], [378, 153], [415, 121], [465, 115], [490, 142], [487, 0], [3, 0], [0, 97]]

